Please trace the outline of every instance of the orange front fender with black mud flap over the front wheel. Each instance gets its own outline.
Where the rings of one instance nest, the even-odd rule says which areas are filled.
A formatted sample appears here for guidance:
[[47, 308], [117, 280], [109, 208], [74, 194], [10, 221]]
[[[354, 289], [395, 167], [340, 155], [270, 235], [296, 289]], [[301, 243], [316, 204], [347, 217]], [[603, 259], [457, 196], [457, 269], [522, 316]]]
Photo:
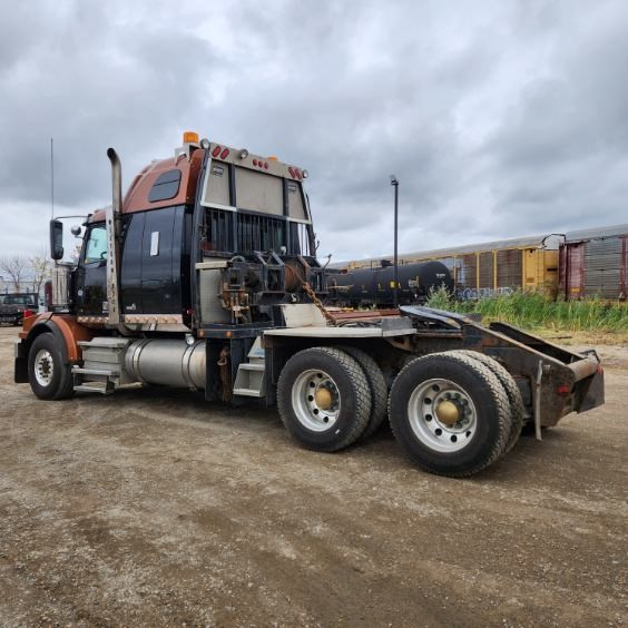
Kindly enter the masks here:
[[95, 330], [77, 323], [70, 314], [43, 312], [24, 320], [20, 332], [20, 340], [16, 341], [16, 383], [28, 382], [28, 353], [32, 341], [39, 335], [51, 333], [61, 347], [63, 364], [71, 364], [82, 360], [79, 341], [90, 341], [96, 335]]

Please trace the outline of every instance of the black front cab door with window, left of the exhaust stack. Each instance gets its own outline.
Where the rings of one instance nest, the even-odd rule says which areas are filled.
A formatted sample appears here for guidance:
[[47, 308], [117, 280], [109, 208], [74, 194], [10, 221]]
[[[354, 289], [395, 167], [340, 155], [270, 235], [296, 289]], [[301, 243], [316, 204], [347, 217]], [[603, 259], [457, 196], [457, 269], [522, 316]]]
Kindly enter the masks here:
[[77, 313], [81, 316], [107, 315], [107, 232], [104, 224], [89, 227], [76, 277]]

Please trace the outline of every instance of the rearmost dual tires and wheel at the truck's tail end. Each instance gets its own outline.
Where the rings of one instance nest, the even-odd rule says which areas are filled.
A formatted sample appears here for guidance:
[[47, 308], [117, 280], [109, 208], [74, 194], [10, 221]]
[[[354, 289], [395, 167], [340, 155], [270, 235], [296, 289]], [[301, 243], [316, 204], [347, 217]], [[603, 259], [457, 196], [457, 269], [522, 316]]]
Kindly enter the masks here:
[[490, 369], [457, 351], [413, 360], [395, 379], [395, 439], [431, 473], [463, 478], [498, 460], [511, 433], [510, 404]]

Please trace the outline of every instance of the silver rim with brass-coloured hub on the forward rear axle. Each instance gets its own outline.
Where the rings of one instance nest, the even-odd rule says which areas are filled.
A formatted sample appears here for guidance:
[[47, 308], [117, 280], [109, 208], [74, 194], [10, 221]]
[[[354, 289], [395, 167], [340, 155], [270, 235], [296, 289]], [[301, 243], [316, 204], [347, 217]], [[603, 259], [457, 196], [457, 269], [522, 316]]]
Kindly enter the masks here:
[[338, 387], [324, 371], [304, 371], [292, 386], [292, 406], [303, 426], [324, 432], [334, 425], [340, 414]]

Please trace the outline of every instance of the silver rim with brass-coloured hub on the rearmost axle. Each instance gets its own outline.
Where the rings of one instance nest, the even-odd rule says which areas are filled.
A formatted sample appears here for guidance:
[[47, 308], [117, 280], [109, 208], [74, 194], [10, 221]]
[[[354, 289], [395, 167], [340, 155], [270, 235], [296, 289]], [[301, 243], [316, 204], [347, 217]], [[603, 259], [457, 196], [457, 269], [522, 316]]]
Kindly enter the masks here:
[[421, 442], [439, 452], [464, 449], [478, 428], [478, 414], [469, 394], [450, 380], [426, 380], [408, 402], [412, 431]]

